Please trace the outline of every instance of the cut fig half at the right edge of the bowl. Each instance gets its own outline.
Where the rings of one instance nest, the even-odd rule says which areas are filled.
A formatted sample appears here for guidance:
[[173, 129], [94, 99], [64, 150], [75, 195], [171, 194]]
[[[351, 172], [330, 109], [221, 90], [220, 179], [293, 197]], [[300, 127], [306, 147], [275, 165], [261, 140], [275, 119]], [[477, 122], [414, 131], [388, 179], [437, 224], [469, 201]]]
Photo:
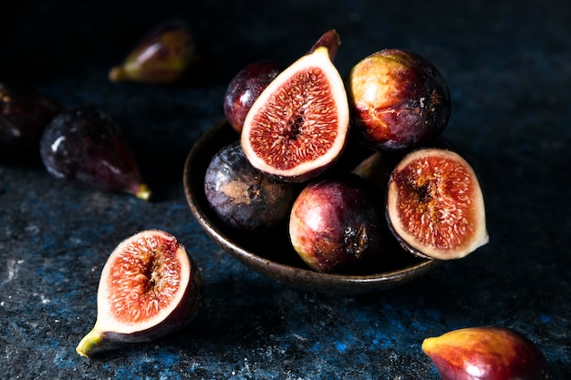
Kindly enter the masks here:
[[460, 259], [489, 240], [480, 182], [449, 149], [417, 149], [400, 160], [389, 178], [386, 215], [402, 247], [421, 257]]

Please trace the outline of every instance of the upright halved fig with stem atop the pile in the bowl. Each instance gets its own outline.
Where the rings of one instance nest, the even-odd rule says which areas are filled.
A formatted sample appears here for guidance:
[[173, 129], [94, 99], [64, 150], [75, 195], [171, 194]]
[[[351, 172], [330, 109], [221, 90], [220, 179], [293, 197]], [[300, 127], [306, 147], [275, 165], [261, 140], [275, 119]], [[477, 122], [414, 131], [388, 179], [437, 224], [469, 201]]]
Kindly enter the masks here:
[[280, 180], [315, 178], [347, 143], [347, 92], [330, 55], [339, 40], [337, 33], [326, 35], [265, 87], [244, 120], [244, 154], [254, 168]]

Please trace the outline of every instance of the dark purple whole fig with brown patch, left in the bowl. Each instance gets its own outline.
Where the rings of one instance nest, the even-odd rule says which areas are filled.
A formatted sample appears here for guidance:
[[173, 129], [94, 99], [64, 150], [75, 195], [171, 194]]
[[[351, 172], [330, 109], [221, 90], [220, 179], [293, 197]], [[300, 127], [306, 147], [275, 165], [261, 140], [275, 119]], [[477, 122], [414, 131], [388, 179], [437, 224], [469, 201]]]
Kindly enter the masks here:
[[214, 154], [204, 176], [204, 193], [225, 225], [259, 233], [285, 225], [297, 190], [255, 169], [240, 141], [234, 141]]

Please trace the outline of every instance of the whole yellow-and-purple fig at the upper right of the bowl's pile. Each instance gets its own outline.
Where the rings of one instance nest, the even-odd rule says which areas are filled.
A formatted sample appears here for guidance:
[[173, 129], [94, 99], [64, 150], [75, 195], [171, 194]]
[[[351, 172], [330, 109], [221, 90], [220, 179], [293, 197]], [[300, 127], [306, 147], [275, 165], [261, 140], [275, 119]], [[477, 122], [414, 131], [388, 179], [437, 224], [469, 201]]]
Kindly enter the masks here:
[[384, 49], [351, 68], [351, 121], [374, 149], [406, 150], [441, 135], [451, 114], [450, 90], [436, 67], [410, 50]]

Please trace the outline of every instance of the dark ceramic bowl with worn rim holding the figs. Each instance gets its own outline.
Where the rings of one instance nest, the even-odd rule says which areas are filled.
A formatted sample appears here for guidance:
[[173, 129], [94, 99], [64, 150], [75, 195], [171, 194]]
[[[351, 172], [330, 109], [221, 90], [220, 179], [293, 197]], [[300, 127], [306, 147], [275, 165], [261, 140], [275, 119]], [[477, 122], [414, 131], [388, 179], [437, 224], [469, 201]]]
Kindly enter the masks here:
[[183, 171], [184, 192], [192, 215], [202, 229], [235, 259], [278, 282], [318, 293], [374, 293], [410, 282], [431, 272], [441, 262], [421, 259], [398, 244], [383, 252], [382, 260], [368, 265], [367, 272], [327, 274], [309, 269], [291, 247], [286, 231], [263, 239], [229, 231], [219, 221], [204, 195], [204, 173], [214, 153], [239, 139], [222, 121], [209, 129], [192, 147]]

